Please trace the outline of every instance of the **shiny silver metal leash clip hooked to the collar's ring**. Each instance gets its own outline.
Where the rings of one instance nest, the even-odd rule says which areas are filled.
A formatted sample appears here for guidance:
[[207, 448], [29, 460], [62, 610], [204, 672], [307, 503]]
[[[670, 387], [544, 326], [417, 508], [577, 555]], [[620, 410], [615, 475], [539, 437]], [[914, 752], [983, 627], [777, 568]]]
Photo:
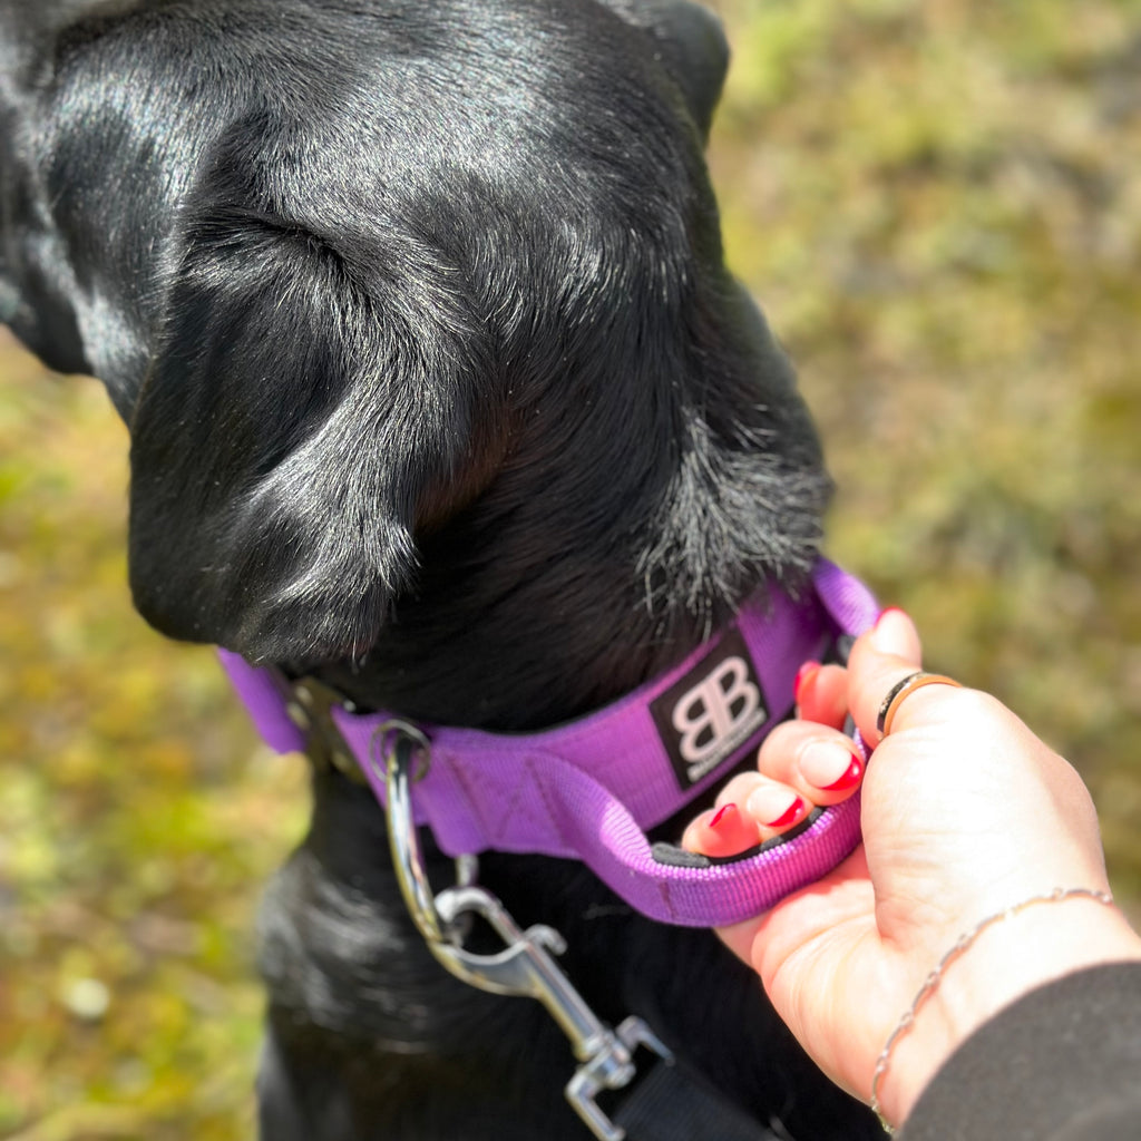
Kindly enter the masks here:
[[[393, 864], [408, 913], [428, 949], [452, 974], [480, 990], [537, 998], [569, 1038], [581, 1062], [566, 1085], [567, 1100], [600, 1141], [622, 1141], [625, 1131], [601, 1110], [598, 1094], [621, 1090], [633, 1081], [633, 1052], [639, 1046], [667, 1065], [673, 1062], [670, 1050], [640, 1018], [624, 1019], [616, 1030], [602, 1022], [552, 958], [566, 950], [563, 936], [541, 924], [521, 930], [500, 900], [475, 883], [475, 856], [456, 860], [455, 887], [432, 892], [412, 814], [412, 783], [423, 776], [430, 762], [430, 745], [419, 729], [403, 721], [386, 722], [373, 738], [371, 761], [385, 766]], [[463, 948], [464, 921], [472, 915], [485, 920], [503, 939], [503, 950], [477, 955]]]

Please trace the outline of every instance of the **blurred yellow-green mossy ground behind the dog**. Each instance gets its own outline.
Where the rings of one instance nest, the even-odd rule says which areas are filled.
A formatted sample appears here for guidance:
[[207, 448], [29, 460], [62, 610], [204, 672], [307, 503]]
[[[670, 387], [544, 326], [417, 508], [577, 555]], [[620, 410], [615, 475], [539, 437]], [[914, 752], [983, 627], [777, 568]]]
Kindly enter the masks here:
[[[820, 424], [830, 551], [1081, 768], [1135, 908], [1141, 2], [718, 7], [726, 244]], [[256, 744], [212, 654], [131, 612], [126, 451], [97, 385], [0, 334], [0, 1136], [19, 1141], [250, 1134], [252, 916], [305, 824], [304, 766]]]

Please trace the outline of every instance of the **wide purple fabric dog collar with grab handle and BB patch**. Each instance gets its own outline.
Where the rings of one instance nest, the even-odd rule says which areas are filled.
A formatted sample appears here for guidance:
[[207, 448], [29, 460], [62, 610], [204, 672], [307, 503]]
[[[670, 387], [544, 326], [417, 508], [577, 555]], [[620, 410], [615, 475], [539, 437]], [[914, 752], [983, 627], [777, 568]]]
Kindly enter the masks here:
[[[770, 591], [680, 665], [580, 720], [537, 734], [420, 725], [430, 764], [414, 787], [418, 824], [450, 856], [486, 850], [582, 860], [639, 912], [711, 926], [747, 919], [819, 879], [859, 842], [859, 798], [820, 809], [791, 834], [727, 860], [652, 845], [669, 819], [742, 758], [793, 705], [799, 665], [861, 632], [877, 607], [867, 589], [822, 560], [815, 596]], [[280, 752], [304, 750], [288, 687], [235, 654], [222, 662], [254, 723]], [[383, 803], [377, 741], [391, 713], [332, 710]]]

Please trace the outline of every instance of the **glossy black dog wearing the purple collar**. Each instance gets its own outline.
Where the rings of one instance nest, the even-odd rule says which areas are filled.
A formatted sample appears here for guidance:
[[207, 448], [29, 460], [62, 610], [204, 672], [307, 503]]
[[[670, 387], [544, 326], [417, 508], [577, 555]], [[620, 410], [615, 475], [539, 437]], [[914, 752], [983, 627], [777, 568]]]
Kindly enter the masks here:
[[[828, 483], [722, 265], [726, 58], [683, 0], [0, 0], [0, 317], [130, 426], [144, 616], [517, 731], [798, 582]], [[264, 1135], [585, 1136], [543, 1010], [445, 974], [371, 794], [314, 787], [264, 920]], [[712, 934], [567, 861], [480, 874], [774, 1135], [877, 1135]]]

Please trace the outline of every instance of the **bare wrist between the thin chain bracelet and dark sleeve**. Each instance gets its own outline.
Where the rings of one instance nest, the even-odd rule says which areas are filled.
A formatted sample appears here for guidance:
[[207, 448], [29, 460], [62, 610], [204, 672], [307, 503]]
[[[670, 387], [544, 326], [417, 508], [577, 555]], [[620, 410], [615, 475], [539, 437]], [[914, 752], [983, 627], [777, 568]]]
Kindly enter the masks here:
[[1023, 994], [1125, 960], [1141, 960], [1141, 937], [1116, 906], [1091, 895], [1033, 897], [990, 916], [948, 948], [920, 992], [913, 1019], [905, 1015], [893, 1035], [876, 1091], [883, 1115], [901, 1124], [950, 1054]]

